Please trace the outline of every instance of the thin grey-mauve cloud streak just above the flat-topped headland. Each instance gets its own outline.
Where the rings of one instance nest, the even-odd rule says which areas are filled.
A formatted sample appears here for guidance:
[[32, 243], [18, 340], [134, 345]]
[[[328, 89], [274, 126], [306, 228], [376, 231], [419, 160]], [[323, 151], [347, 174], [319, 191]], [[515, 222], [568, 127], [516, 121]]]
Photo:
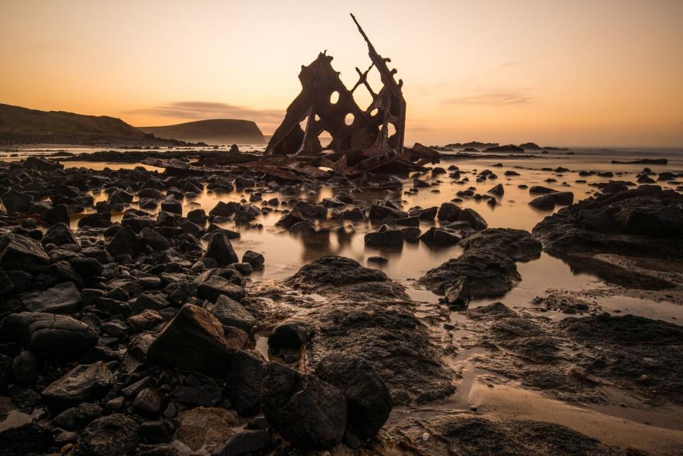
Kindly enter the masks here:
[[183, 120], [243, 119], [253, 120], [257, 124], [277, 125], [285, 117], [285, 110], [257, 110], [227, 103], [179, 101], [131, 110], [128, 114], [156, 115]]

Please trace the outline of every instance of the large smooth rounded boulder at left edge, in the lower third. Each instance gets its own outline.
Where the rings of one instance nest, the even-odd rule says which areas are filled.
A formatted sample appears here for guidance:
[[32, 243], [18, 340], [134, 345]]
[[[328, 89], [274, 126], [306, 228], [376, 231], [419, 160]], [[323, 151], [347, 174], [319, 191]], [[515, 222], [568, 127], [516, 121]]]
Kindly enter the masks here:
[[41, 359], [74, 360], [95, 346], [99, 337], [87, 324], [65, 315], [21, 312], [5, 317], [0, 337], [21, 343]]

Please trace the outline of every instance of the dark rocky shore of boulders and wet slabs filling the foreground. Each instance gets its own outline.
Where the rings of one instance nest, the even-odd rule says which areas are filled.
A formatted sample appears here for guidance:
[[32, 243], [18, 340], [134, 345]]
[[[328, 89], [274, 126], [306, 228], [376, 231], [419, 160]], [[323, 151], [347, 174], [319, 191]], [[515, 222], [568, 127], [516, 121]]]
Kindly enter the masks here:
[[[430, 172], [469, 181], [457, 166]], [[679, 324], [610, 314], [591, 299], [597, 293], [562, 290], [533, 311], [468, 307], [512, 290], [519, 265], [542, 251], [624, 294], [682, 304], [683, 196], [641, 184], [612, 181], [576, 203], [573, 193], [535, 189], [566, 207], [529, 233], [489, 228], [455, 199], [404, 208], [401, 199], [354, 198], [369, 186], [400, 190], [392, 177], [288, 181], [230, 169], [169, 176], [37, 157], [0, 162], [0, 456], [647, 454], [463, 405], [476, 374], [489, 389], [515, 385], [563, 403], [607, 404], [618, 388], [639, 404], [683, 406]], [[334, 197], [277, 197], [321, 186]], [[208, 211], [183, 203], [235, 189], [248, 201]], [[460, 201], [495, 204], [504, 187], [462, 192]], [[418, 278], [442, 296], [435, 304], [337, 255], [255, 283], [249, 277], [268, 253], [240, 257], [231, 241], [240, 233], [221, 225], [256, 230], [270, 213], [278, 229], [309, 242], [322, 230], [344, 238], [347, 224], [362, 222], [374, 226], [369, 248], [425, 243], [462, 253]]]

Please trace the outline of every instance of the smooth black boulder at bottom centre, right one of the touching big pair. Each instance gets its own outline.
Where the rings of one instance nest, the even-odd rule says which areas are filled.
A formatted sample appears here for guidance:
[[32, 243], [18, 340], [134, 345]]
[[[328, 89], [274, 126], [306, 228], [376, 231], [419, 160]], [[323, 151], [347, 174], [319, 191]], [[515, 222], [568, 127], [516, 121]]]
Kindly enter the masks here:
[[360, 356], [332, 354], [315, 373], [346, 396], [348, 425], [363, 439], [374, 437], [391, 412], [391, 394], [372, 364]]

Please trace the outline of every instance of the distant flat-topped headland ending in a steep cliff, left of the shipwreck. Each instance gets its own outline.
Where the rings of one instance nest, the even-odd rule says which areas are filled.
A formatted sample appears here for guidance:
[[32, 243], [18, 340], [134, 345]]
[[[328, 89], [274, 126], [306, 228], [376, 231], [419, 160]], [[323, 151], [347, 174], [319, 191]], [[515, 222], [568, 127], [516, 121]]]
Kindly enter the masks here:
[[202, 141], [208, 143], [252, 143], [263, 144], [263, 133], [250, 120], [211, 119], [167, 125], [166, 127], [138, 127], [145, 133], [159, 138], [175, 138], [183, 141]]

